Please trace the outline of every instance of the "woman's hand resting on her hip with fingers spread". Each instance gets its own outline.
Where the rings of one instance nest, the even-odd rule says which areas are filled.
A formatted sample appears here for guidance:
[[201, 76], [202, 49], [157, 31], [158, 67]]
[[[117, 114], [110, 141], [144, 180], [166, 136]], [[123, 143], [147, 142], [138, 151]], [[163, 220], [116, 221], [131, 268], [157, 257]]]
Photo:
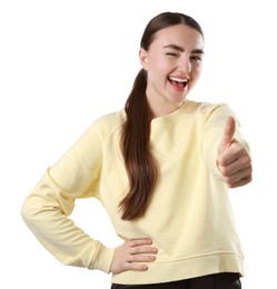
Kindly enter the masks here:
[[156, 260], [158, 250], [150, 239], [133, 239], [116, 248], [110, 272], [120, 273], [127, 270], [146, 271], [147, 262]]

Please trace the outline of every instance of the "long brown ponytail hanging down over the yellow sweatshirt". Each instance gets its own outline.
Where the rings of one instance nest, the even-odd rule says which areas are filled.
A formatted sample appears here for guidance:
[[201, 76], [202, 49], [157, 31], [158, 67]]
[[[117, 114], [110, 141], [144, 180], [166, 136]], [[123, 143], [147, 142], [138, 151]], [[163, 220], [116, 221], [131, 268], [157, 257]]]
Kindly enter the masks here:
[[149, 148], [151, 113], [146, 86], [147, 73], [141, 69], [125, 106], [127, 120], [122, 127], [121, 149], [129, 178], [129, 192], [119, 203], [123, 220], [135, 220], [144, 216], [158, 176]]

